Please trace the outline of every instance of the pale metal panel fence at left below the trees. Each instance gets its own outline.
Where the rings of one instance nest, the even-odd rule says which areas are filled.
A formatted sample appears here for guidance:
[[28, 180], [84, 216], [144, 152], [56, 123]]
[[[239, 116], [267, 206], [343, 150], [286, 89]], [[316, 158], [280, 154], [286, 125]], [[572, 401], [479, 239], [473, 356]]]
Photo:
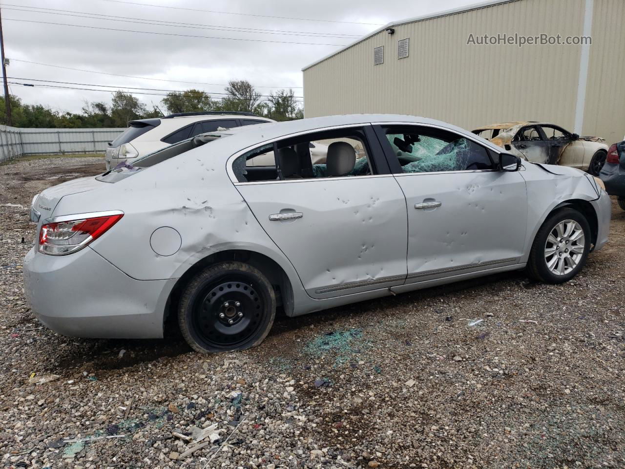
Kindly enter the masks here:
[[20, 129], [0, 125], [0, 163], [27, 154], [104, 153], [125, 129]]

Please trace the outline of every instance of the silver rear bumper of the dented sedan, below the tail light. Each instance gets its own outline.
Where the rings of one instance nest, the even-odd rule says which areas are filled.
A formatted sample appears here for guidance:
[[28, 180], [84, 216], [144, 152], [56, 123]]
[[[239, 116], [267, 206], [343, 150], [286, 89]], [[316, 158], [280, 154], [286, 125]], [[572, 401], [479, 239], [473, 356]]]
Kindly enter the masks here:
[[160, 338], [176, 280], [130, 278], [87, 247], [68, 256], [31, 249], [24, 292], [36, 318], [66, 336]]

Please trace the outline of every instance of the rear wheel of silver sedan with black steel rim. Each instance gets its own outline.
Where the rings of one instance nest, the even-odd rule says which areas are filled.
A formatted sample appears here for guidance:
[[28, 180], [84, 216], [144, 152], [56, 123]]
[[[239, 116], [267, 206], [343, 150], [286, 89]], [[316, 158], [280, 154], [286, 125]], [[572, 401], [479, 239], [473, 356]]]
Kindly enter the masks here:
[[199, 353], [245, 350], [258, 345], [276, 317], [276, 296], [261, 271], [242, 262], [217, 263], [184, 288], [178, 324]]

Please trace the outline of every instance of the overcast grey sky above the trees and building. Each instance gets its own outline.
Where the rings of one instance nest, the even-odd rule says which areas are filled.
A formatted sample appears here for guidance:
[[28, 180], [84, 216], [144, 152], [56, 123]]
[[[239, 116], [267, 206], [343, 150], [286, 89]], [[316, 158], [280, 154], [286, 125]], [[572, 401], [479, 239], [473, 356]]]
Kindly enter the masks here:
[[[79, 88], [110, 85], [183, 90], [193, 87], [210, 94], [222, 93], [222, 85], [231, 79], [247, 79], [262, 94], [269, 94], [269, 91], [278, 88], [292, 87], [296, 96], [302, 96], [301, 68], [341, 48], [342, 44], [348, 44], [390, 21], [472, 3], [476, 1], [394, 0], [385, 3], [379, 0], [2, 0], [1, 6], [5, 54], [11, 60], [7, 68], [7, 75], [11, 77], [9, 81], [34, 84], [37, 82], [31, 81], [32, 79], [72, 82], [79, 84], [47, 84]], [[85, 14], [99, 18], [84, 18]], [[107, 18], [106, 15], [117, 18], [104, 19]], [[276, 16], [282, 18], [268, 18]], [[127, 21], [119, 21], [119, 17]], [[42, 23], [33, 23], [34, 21]], [[140, 24], [144, 21], [156, 24]], [[163, 22], [185, 23], [186, 26], [164, 25]], [[74, 24], [86, 28], [46, 23]], [[131, 29], [183, 36], [95, 28]], [[263, 32], [251, 29], [261, 29]], [[54, 68], [24, 61], [99, 73]], [[126, 78], [106, 73], [153, 79]], [[180, 81], [198, 83], [179, 83]], [[84, 101], [111, 101], [111, 93], [104, 91], [41, 86], [30, 88], [20, 84], [9, 86], [11, 93], [19, 96], [24, 103], [44, 104], [61, 111], [78, 112]], [[136, 96], [149, 108], [151, 104], [158, 105], [163, 99], [163, 96], [147, 94]]]

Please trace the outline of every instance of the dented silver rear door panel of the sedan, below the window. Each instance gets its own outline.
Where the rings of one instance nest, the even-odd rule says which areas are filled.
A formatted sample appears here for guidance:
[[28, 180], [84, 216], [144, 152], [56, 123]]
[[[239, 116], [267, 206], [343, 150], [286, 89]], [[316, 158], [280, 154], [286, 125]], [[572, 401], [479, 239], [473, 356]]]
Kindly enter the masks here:
[[[239, 184], [237, 189], [313, 298], [404, 283], [406, 201], [392, 176]], [[301, 216], [269, 218], [288, 213]]]

